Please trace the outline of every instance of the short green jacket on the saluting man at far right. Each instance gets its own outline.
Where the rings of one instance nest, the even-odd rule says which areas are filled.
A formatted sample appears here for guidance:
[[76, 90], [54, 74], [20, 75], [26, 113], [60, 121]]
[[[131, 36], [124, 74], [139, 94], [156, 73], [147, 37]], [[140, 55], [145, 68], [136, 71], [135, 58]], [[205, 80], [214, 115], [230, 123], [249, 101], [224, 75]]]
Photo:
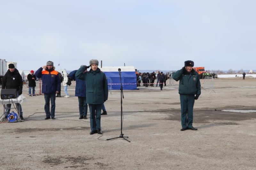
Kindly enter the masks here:
[[201, 94], [201, 83], [199, 74], [194, 69], [190, 73], [183, 74], [183, 70], [180, 69], [172, 75], [172, 78], [176, 81], [180, 80], [179, 94], [180, 95], [197, 95]]

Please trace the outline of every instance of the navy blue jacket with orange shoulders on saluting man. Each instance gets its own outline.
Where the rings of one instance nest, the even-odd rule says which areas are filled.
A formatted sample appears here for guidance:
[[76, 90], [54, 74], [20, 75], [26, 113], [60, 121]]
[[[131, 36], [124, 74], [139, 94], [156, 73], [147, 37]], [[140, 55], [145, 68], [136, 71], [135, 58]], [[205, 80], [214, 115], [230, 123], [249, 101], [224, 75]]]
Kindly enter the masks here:
[[58, 71], [54, 70], [54, 67], [52, 67], [51, 70], [48, 70], [47, 67], [43, 70], [43, 68], [40, 67], [35, 75], [42, 80], [42, 93], [55, 94], [56, 91], [60, 92], [60, 76], [58, 75]]

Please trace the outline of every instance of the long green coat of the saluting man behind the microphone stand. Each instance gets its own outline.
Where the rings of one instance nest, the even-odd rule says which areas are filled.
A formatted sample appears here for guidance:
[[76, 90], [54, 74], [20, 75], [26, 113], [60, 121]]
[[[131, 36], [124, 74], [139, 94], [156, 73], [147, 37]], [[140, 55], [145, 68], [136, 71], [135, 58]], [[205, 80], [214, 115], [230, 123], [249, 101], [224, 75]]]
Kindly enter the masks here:
[[76, 72], [76, 77], [86, 81], [86, 103], [102, 104], [108, 100], [108, 82], [105, 73], [100, 68], [85, 72], [85, 67], [80, 67]]

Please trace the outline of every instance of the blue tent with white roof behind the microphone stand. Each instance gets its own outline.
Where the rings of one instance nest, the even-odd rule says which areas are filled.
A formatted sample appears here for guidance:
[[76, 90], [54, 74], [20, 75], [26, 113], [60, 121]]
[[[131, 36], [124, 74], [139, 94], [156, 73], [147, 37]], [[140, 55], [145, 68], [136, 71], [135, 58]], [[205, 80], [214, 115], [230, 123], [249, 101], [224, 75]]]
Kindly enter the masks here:
[[100, 70], [104, 72], [108, 80], [108, 89], [120, 90], [121, 80], [118, 68], [121, 69], [122, 86], [124, 90], [136, 90], [137, 89], [137, 77], [135, 67], [123, 66], [123, 67], [101, 67]]

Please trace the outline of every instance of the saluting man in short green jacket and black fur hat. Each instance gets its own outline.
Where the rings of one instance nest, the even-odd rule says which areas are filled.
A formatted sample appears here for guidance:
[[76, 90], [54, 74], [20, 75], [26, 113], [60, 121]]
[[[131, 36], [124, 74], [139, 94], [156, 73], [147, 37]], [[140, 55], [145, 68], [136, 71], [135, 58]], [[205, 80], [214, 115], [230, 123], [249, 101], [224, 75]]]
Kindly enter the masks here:
[[[201, 94], [201, 83], [199, 74], [192, 68], [194, 62], [191, 60], [185, 61], [185, 66], [173, 74], [173, 79], [180, 80], [179, 94], [181, 107], [181, 131], [187, 129], [197, 130], [192, 126], [193, 124], [193, 108], [195, 100]], [[196, 96], [195, 96], [196, 95]]]

